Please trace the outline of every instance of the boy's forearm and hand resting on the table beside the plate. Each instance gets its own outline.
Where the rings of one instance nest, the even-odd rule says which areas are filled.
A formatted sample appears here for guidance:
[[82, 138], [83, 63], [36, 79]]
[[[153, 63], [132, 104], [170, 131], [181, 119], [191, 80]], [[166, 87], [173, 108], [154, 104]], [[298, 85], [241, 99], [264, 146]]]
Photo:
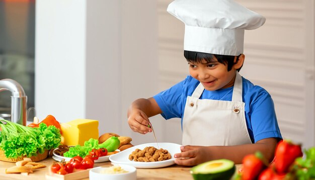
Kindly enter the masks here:
[[[277, 145], [276, 138], [266, 138], [255, 144], [235, 146], [183, 146], [182, 152], [175, 154], [175, 163], [179, 165], [196, 165], [214, 159], [229, 159], [235, 164], [241, 164], [244, 156], [262, 152], [264, 157], [271, 162]], [[189, 157], [189, 158], [188, 158]]]

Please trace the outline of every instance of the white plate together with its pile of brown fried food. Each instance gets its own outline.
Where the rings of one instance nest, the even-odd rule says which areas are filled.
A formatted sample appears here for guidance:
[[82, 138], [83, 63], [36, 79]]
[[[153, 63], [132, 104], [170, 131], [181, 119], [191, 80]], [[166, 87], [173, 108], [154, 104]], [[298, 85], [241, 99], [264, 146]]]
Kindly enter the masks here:
[[181, 152], [181, 146], [168, 142], [140, 144], [110, 156], [109, 160], [137, 168], [166, 167], [175, 164], [174, 154]]

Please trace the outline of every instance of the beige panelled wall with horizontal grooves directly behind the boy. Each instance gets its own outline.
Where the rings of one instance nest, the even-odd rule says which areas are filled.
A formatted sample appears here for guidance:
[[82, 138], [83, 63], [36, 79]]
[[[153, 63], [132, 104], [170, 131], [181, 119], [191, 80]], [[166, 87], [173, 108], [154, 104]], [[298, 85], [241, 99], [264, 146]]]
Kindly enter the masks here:
[[[266, 23], [245, 32], [241, 74], [271, 94], [283, 138], [315, 145], [314, 1], [237, 0], [262, 14]], [[188, 74], [183, 57], [184, 24], [166, 12], [172, 0], [158, 1], [161, 91]], [[170, 120], [169, 120], [170, 121]], [[180, 120], [165, 124], [166, 137], [181, 141]]]

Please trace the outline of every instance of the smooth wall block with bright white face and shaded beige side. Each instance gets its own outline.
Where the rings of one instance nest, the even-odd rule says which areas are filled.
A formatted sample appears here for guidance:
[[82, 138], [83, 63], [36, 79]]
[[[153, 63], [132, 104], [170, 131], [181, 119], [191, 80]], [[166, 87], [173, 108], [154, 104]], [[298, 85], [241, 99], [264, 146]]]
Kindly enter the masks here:
[[100, 134], [152, 142], [131, 132], [126, 114], [157, 92], [156, 19], [155, 1], [36, 1], [37, 116], [96, 119]]

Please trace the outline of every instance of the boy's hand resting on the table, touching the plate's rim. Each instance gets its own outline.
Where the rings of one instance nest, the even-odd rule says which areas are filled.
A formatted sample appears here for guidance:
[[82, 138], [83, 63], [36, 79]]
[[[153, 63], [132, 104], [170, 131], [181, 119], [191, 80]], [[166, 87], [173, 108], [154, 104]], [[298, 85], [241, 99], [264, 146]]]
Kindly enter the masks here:
[[209, 147], [207, 146], [182, 146], [181, 153], [174, 154], [175, 163], [178, 165], [197, 165], [209, 160]]

